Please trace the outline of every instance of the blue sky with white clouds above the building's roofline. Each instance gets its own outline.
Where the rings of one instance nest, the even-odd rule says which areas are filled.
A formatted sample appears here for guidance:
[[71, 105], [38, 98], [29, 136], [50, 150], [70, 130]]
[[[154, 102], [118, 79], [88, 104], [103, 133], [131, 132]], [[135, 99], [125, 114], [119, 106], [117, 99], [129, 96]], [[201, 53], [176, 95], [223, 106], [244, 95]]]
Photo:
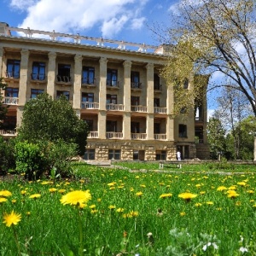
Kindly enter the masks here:
[[177, 0], [0, 0], [9, 26], [158, 45], [149, 27], [168, 26]]

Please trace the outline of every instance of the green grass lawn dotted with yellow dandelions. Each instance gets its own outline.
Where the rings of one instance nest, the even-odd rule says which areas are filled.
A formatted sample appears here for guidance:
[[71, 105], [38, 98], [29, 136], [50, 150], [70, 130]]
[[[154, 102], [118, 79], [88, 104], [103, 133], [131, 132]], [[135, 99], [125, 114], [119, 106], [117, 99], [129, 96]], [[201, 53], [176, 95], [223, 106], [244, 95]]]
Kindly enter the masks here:
[[[227, 175], [194, 165], [192, 172], [73, 168], [72, 180], [0, 183], [1, 255], [256, 253], [254, 166]], [[64, 204], [71, 192], [91, 198]], [[12, 211], [18, 221], [7, 226]]]

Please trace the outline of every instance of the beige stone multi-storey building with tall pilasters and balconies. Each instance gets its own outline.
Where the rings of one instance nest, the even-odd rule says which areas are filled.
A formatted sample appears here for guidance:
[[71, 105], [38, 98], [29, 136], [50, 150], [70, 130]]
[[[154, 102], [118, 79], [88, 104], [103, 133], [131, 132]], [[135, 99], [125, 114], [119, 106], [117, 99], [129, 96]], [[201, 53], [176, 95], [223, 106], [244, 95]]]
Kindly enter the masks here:
[[163, 48], [0, 23], [9, 105], [1, 134], [15, 136], [26, 101], [44, 91], [67, 96], [89, 125], [86, 160], [176, 160], [177, 149], [206, 159], [206, 97], [188, 119], [173, 117], [172, 86], [160, 77], [166, 60]]

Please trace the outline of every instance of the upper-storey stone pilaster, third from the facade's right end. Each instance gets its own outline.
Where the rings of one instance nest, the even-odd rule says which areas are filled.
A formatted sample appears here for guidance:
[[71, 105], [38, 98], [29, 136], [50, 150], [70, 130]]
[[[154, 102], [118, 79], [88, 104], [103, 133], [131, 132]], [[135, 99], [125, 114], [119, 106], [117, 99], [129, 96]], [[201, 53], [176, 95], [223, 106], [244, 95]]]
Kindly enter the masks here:
[[131, 111], [131, 61], [125, 61], [124, 65], [124, 105], [125, 111]]

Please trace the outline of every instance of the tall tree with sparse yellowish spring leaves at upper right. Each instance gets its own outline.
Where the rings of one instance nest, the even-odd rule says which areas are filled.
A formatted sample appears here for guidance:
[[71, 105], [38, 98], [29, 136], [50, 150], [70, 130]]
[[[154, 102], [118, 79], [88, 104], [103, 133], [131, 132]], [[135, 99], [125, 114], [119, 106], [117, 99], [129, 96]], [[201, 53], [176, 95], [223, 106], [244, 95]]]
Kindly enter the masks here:
[[[212, 83], [208, 90], [227, 86], [241, 91], [256, 116], [256, 2], [181, 0], [178, 6], [172, 16], [173, 26], [162, 30], [164, 33], [154, 29], [163, 43], [171, 45], [168, 47], [170, 61], [163, 71], [166, 80], [170, 84], [183, 84], [185, 79], [197, 74], [218, 72], [224, 77], [224, 83]], [[188, 92], [180, 88], [175, 90], [177, 98], [183, 101], [181, 105], [194, 104], [201, 86], [194, 84], [189, 95], [184, 95]]]

